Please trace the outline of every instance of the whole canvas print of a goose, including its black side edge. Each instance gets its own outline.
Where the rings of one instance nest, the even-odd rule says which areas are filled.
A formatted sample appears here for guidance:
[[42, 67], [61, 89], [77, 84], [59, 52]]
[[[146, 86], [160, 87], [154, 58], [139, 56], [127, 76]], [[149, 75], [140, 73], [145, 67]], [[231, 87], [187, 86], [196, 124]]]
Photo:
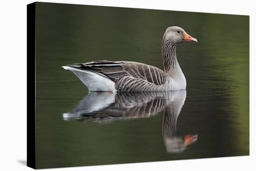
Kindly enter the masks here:
[[27, 7], [36, 169], [249, 155], [249, 16]]

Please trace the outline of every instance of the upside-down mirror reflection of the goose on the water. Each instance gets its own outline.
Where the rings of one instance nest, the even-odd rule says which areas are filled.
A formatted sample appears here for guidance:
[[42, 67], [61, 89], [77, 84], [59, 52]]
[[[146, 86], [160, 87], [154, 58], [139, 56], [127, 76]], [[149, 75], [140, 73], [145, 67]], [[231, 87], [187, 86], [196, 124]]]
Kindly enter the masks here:
[[177, 135], [177, 118], [186, 99], [186, 90], [175, 92], [89, 92], [64, 120], [91, 120], [109, 123], [119, 119], [148, 118], [164, 111], [162, 137], [168, 153], [184, 151], [197, 134]]

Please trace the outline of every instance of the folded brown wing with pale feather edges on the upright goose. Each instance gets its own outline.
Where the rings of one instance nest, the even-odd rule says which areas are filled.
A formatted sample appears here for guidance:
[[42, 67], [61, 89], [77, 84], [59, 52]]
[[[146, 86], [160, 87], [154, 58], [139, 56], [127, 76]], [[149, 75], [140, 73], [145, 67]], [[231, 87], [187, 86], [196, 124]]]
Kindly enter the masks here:
[[167, 80], [167, 75], [161, 69], [138, 62], [99, 60], [67, 66], [81, 70], [91, 70], [113, 81], [124, 77], [133, 77], [135, 79], [143, 79], [155, 85], [163, 85]]

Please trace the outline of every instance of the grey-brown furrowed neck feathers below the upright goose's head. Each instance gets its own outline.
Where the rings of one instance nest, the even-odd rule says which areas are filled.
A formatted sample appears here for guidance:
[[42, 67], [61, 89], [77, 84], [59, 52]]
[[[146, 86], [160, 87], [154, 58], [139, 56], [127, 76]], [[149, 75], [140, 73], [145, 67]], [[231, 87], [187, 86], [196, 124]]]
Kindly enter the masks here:
[[167, 40], [165, 36], [162, 39], [162, 58], [165, 72], [174, 70], [178, 64], [176, 59], [176, 45], [174, 42]]

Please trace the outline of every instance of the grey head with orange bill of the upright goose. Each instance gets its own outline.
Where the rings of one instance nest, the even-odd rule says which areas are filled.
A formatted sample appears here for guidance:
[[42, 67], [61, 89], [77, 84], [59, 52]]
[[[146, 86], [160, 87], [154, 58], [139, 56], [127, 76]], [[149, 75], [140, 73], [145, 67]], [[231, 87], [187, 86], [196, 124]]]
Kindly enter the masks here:
[[197, 42], [197, 39], [190, 36], [181, 27], [178, 26], [168, 27], [164, 33], [164, 39], [175, 44]]

